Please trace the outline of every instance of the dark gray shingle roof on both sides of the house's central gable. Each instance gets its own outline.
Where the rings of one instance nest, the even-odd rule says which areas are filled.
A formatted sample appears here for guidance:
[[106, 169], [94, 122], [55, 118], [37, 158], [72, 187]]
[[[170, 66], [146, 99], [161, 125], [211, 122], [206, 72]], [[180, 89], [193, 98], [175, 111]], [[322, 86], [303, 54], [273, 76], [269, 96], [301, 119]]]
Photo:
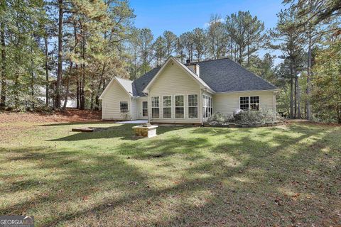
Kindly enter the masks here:
[[[276, 89], [265, 79], [249, 72], [238, 63], [222, 58], [217, 60], [207, 60], [202, 62], [193, 62], [200, 66], [200, 79], [202, 79], [215, 92], [242, 92], [255, 90]], [[160, 67], [154, 68], [143, 76], [136, 79], [132, 86], [134, 96], [145, 96], [142, 91], [151, 79], [160, 70]]]

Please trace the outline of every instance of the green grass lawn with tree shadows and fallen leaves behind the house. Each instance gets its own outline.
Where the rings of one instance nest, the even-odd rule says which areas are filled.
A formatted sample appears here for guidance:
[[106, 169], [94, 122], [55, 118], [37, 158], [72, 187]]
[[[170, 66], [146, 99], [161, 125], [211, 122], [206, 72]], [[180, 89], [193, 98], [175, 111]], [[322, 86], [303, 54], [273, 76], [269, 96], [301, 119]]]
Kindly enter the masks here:
[[[75, 126], [106, 127], [75, 133]], [[341, 128], [0, 123], [0, 215], [36, 226], [337, 226]]]

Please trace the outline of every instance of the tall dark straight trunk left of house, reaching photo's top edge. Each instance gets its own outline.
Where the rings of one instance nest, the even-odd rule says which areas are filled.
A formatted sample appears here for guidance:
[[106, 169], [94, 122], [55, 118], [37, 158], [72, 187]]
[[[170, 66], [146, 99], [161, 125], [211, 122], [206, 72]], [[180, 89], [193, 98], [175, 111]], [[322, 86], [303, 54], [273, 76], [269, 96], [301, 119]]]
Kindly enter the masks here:
[[58, 0], [58, 68], [55, 87], [55, 108], [60, 108], [61, 82], [63, 70], [63, 0]]

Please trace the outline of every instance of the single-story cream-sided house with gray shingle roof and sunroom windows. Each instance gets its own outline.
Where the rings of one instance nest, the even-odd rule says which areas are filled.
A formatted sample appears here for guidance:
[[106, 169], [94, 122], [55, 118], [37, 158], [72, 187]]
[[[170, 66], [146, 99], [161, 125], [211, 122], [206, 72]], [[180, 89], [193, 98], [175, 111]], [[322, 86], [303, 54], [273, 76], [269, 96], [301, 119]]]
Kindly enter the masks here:
[[276, 111], [277, 91], [229, 58], [183, 64], [171, 56], [134, 81], [112, 78], [99, 99], [104, 120], [203, 123], [215, 112]]

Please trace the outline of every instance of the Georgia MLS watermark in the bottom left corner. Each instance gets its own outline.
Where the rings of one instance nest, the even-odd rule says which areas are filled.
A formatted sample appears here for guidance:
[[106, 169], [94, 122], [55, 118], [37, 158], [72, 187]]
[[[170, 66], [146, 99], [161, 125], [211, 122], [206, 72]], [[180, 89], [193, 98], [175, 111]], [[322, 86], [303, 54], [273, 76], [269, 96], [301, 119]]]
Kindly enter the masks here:
[[0, 227], [34, 227], [33, 216], [0, 216]]

